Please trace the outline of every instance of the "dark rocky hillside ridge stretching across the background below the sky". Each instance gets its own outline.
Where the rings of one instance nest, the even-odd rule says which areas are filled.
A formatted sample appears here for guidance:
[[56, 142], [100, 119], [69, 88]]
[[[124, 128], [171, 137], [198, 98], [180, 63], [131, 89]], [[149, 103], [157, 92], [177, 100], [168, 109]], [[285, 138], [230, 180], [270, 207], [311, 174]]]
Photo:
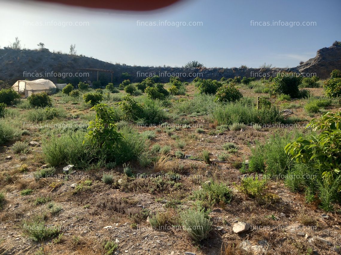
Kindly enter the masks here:
[[[341, 47], [332, 46], [317, 51], [317, 55], [307, 62], [293, 68], [176, 68], [176, 67], [141, 67], [110, 64], [82, 55], [69, 55], [37, 50], [0, 49], [0, 80], [9, 84], [16, 80], [49, 79], [57, 82], [94, 81], [97, 72], [80, 71], [77, 68], [98, 68], [113, 71], [114, 83], [123, 79], [122, 73], [129, 73], [132, 82], [139, 82], [148, 76], [157, 74], [161, 82], [169, 81], [170, 76], [179, 76], [183, 81], [191, 81], [195, 77], [205, 79], [275, 76], [280, 70], [300, 73], [316, 73], [321, 79], [329, 77], [333, 69], [341, 69]], [[100, 72], [99, 80], [102, 84], [111, 81], [111, 74]]]

